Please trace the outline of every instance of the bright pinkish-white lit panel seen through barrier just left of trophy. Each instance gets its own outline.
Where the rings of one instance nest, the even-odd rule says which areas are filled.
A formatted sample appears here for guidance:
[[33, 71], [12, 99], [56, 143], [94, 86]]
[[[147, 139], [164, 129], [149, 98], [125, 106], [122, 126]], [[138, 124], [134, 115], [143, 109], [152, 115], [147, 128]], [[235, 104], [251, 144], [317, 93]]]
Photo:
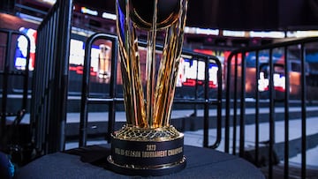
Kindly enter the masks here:
[[[110, 41], [111, 43], [111, 41]], [[98, 77], [110, 78], [110, 56], [111, 50], [108, 44], [100, 45], [100, 53], [98, 55]]]

